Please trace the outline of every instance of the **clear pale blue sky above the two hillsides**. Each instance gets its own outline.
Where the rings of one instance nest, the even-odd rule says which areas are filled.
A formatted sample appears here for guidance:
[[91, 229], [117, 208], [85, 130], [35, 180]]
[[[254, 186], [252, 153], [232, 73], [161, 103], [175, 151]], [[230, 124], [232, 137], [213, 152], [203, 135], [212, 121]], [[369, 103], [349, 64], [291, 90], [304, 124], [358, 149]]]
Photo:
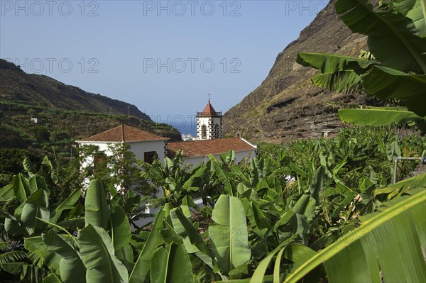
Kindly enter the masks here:
[[327, 2], [1, 0], [0, 57], [170, 123], [241, 101]]

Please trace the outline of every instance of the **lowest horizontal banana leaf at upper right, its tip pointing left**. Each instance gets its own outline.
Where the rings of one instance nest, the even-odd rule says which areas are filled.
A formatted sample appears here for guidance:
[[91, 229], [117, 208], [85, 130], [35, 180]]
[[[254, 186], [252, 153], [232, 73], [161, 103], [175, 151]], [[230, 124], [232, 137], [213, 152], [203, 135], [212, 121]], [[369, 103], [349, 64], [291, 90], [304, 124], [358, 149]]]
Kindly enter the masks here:
[[387, 126], [395, 124], [415, 123], [417, 128], [426, 133], [426, 118], [422, 118], [411, 111], [398, 109], [340, 109], [339, 117], [342, 121], [358, 126]]

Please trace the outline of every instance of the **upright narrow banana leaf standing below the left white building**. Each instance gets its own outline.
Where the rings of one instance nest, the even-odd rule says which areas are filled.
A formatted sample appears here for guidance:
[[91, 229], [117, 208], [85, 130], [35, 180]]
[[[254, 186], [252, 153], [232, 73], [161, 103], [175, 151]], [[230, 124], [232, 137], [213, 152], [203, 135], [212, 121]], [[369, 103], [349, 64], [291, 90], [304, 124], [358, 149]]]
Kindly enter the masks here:
[[87, 187], [84, 201], [86, 226], [102, 227], [108, 229], [109, 209], [102, 181], [92, 179]]

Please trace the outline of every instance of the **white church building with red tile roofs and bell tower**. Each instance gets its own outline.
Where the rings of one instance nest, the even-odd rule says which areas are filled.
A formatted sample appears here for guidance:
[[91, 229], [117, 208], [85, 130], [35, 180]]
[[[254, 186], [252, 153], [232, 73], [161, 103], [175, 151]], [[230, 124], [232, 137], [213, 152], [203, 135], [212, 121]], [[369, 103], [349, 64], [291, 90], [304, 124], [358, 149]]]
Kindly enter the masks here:
[[[257, 147], [244, 138], [222, 138], [222, 112], [214, 110], [209, 101], [202, 112], [197, 112], [197, 139], [173, 142], [168, 138], [147, 133], [127, 125], [116, 126], [84, 140], [77, 140], [80, 146], [97, 145], [106, 155], [111, 155], [110, 145], [127, 143], [137, 158], [151, 163], [155, 157], [164, 163], [165, 157], [173, 158], [182, 150], [185, 165], [199, 165], [207, 162], [209, 155], [219, 159], [222, 153], [234, 150], [235, 162], [257, 156]], [[94, 160], [84, 160], [82, 167]]]

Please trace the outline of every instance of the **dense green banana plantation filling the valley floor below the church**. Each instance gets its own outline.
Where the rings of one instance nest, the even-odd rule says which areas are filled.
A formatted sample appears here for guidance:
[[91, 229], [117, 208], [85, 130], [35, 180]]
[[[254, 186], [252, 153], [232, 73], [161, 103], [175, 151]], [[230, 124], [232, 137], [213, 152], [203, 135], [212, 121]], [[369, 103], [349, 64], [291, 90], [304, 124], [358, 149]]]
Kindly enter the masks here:
[[[426, 185], [425, 174], [391, 184], [394, 157], [426, 153], [426, 138], [398, 138], [393, 131], [345, 128], [336, 139], [263, 144], [258, 158], [239, 165], [233, 152], [193, 168], [182, 167], [178, 155], [165, 165], [139, 162], [143, 170], [136, 175], [126, 148], [116, 150], [129, 156], [108, 160], [114, 169], [104, 172], [70, 174], [47, 158], [36, 170], [26, 160], [24, 172], [0, 189], [0, 276], [24, 282], [212, 282], [260, 278], [259, 269], [272, 274], [279, 267], [283, 279], [305, 258], [292, 253], [315, 255], [356, 231], [364, 215]], [[86, 148], [84, 154], [97, 152]], [[400, 163], [398, 179], [415, 165]], [[111, 178], [125, 169], [127, 180]], [[97, 178], [87, 190], [79, 187], [85, 177]], [[141, 181], [125, 195], [116, 191], [135, 178], [159, 186], [162, 197], [152, 198]], [[70, 184], [77, 186], [71, 192]], [[199, 198], [202, 208], [194, 203]], [[138, 227], [144, 204], [160, 211], [152, 226]], [[382, 232], [379, 227], [369, 236], [380, 240]], [[279, 251], [275, 267], [262, 263]], [[310, 279], [325, 279], [327, 266], [322, 268]]]

